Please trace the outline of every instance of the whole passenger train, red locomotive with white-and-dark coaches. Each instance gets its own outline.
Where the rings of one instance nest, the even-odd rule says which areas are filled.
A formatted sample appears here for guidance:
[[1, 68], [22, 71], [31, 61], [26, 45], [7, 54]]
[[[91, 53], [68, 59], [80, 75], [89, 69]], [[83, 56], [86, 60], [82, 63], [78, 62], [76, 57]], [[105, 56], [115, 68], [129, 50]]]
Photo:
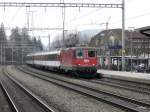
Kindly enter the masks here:
[[53, 71], [71, 72], [77, 76], [95, 76], [97, 50], [94, 47], [72, 47], [27, 55], [27, 64]]

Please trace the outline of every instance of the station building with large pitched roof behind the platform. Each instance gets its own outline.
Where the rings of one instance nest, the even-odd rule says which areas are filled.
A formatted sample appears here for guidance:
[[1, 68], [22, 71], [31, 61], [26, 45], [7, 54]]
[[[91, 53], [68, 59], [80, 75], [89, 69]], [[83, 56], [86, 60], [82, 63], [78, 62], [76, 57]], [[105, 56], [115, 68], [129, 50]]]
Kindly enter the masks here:
[[[109, 55], [110, 57], [121, 58], [122, 29], [103, 30], [92, 37], [89, 46], [99, 48], [100, 56], [106, 57]], [[145, 59], [150, 59], [150, 37], [141, 33], [141, 30], [125, 30], [125, 56], [131, 57], [136, 65], [145, 63], [146, 66], [149, 66], [150, 62], [148, 63]], [[131, 60], [131, 58], [128, 59]]]

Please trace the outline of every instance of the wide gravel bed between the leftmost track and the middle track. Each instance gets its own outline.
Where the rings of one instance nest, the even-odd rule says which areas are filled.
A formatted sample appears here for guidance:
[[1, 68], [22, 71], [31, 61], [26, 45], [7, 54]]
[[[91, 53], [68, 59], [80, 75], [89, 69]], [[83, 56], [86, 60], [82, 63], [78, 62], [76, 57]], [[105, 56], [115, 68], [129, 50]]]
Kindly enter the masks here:
[[60, 112], [125, 112], [93, 98], [12, 70], [13, 76]]

